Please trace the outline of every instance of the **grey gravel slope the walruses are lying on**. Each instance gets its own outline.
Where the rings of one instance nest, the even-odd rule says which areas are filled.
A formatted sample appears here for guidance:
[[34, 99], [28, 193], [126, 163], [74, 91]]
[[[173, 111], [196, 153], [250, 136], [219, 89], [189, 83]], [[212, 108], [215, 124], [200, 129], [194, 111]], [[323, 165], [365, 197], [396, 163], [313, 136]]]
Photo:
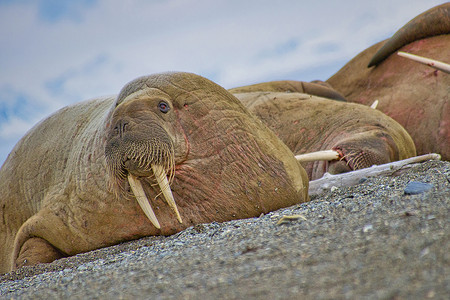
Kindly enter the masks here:
[[259, 218], [0, 275], [0, 298], [448, 299], [449, 210], [450, 163], [429, 161]]

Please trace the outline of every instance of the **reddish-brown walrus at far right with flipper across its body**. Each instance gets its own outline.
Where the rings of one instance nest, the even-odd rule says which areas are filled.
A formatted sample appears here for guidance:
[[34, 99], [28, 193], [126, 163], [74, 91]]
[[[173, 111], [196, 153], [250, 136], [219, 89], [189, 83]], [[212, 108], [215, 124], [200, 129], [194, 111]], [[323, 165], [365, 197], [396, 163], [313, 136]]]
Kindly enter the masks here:
[[444, 3], [358, 54], [326, 82], [348, 101], [378, 100], [377, 109], [409, 132], [418, 154], [440, 153], [450, 160], [450, 75], [396, 54], [449, 63], [449, 48], [450, 3]]

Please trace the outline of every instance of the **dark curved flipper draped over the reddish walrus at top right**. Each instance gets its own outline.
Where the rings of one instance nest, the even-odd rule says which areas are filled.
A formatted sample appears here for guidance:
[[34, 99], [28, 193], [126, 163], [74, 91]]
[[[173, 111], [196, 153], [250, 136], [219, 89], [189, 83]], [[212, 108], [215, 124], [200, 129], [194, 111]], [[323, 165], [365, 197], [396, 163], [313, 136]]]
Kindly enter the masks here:
[[447, 2], [425, 11], [406, 23], [375, 53], [367, 67], [378, 65], [404, 45], [427, 37], [449, 33], [450, 2]]

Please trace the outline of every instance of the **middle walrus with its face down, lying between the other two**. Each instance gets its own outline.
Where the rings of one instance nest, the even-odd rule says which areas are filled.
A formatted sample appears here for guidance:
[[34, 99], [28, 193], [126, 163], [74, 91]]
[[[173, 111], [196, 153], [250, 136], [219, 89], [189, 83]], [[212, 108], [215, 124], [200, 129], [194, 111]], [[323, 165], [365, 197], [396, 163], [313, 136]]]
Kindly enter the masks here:
[[294, 152], [336, 150], [341, 159], [303, 163], [310, 180], [415, 156], [408, 133], [360, 104], [301, 93], [234, 94]]

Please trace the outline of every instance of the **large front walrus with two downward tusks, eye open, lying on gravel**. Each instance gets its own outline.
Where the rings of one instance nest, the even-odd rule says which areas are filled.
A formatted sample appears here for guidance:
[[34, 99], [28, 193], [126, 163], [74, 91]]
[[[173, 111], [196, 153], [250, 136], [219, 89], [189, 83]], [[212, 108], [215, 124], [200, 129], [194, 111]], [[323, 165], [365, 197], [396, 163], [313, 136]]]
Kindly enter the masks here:
[[293, 153], [231, 93], [191, 73], [38, 123], [0, 169], [0, 272], [308, 201]]

